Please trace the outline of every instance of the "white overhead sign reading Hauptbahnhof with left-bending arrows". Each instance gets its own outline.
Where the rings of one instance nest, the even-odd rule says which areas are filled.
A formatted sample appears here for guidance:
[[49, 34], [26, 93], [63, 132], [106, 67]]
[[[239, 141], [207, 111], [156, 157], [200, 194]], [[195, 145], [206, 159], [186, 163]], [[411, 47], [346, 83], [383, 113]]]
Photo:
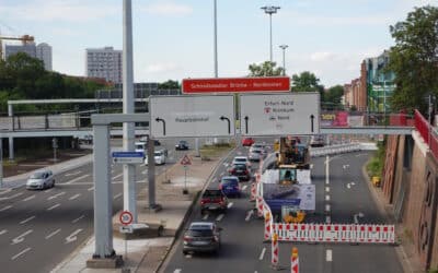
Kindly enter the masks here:
[[150, 130], [154, 139], [234, 135], [234, 97], [151, 96]]

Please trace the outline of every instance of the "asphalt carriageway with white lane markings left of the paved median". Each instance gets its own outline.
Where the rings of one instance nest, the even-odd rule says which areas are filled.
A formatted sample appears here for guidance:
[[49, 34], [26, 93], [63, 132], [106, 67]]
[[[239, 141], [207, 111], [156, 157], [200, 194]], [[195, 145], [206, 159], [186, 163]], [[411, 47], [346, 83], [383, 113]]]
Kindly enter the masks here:
[[[183, 152], [169, 150], [168, 166]], [[165, 143], [164, 143], [165, 144]], [[138, 192], [147, 186], [147, 166], [137, 168]], [[55, 188], [24, 187], [0, 192], [0, 264], [2, 272], [50, 272], [93, 234], [92, 164], [55, 176]], [[112, 166], [113, 212], [123, 209], [122, 165]]]

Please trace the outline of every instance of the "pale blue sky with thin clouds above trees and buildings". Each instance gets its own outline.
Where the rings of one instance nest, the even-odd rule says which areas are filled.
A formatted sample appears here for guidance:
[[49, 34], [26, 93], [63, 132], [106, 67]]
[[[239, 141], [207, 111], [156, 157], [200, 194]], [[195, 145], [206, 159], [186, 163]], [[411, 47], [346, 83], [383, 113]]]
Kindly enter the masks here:
[[[132, 0], [134, 81], [214, 78], [214, 0]], [[218, 75], [239, 78], [269, 60], [314, 73], [325, 87], [360, 75], [365, 58], [394, 45], [390, 25], [438, 0], [217, 0]], [[85, 49], [123, 49], [123, 0], [0, 0], [0, 34], [53, 47], [53, 68], [85, 75]], [[10, 41], [8, 41], [10, 43]]]

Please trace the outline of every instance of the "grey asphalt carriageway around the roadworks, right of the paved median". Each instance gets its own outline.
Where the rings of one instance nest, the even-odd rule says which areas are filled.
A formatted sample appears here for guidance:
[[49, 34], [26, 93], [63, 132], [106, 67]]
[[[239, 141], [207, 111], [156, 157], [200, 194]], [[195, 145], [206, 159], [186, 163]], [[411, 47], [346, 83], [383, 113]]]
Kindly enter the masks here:
[[[218, 168], [208, 187], [226, 171], [227, 164], [240, 147]], [[314, 223], [384, 223], [362, 177], [361, 168], [369, 158], [367, 153], [350, 153], [333, 157], [312, 158], [312, 177], [316, 186], [316, 212], [309, 219]], [[256, 168], [256, 166], [254, 166]], [[161, 272], [272, 272], [270, 244], [263, 242], [263, 221], [251, 213], [250, 183], [242, 182], [245, 194], [231, 199], [226, 214], [203, 216], [197, 206], [193, 221], [217, 222], [222, 230], [222, 247], [217, 256], [182, 253], [182, 238], [175, 244]], [[291, 248], [298, 247], [301, 272], [403, 272], [392, 246], [348, 244], [279, 244], [279, 265], [290, 270]]]

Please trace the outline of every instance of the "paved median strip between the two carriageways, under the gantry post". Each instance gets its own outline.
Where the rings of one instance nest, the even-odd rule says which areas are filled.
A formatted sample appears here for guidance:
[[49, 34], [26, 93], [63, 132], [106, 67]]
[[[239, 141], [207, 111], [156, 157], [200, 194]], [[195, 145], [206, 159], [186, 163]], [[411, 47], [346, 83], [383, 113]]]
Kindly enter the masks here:
[[[138, 194], [137, 212], [138, 223], [162, 224], [164, 226], [163, 237], [147, 239], [127, 240], [127, 261], [125, 257], [125, 240], [118, 234], [119, 219], [118, 213], [113, 216], [113, 248], [117, 254], [124, 256], [124, 269], [130, 272], [151, 273], [157, 272], [165, 259], [168, 251], [174, 244], [175, 235], [184, 225], [186, 216], [192, 210], [193, 199], [197, 192], [203, 190], [216, 167], [222, 161], [226, 153], [221, 156], [204, 162], [199, 157], [192, 157], [192, 165], [187, 171], [188, 194], [183, 194], [184, 188], [184, 168], [180, 164], [170, 167], [165, 173], [155, 177], [155, 197], [157, 203], [162, 205], [159, 212], [152, 212], [147, 209], [148, 188], [141, 190]], [[171, 182], [165, 181], [170, 179]], [[83, 245], [77, 252], [70, 254], [51, 272], [71, 273], [71, 272], [120, 272], [120, 269], [88, 269], [87, 260], [94, 253], [94, 236]]]

